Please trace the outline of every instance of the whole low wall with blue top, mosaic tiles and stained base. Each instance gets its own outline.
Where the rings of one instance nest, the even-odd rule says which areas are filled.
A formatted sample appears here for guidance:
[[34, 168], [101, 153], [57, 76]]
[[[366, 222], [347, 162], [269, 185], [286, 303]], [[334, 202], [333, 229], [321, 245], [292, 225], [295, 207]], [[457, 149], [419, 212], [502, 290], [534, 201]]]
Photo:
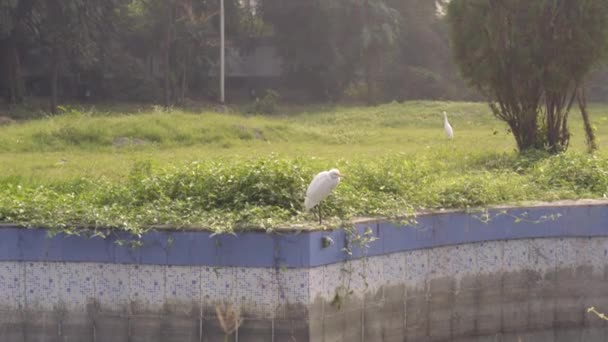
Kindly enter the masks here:
[[[552, 208], [571, 216], [527, 231], [495, 220], [483, 229], [512, 238], [471, 242], [461, 241], [473, 227], [462, 213], [421, 218], [417, 228], [377, 223], [380, 240], [366, 258], [338, 256], [339, 232], [327, 248], [314, 235], [326, 232], [271, 245], [250, 236], [225, 245], [232, 259], [215, 251], [193, 261], [183, 246], [190, 259], [169, 259], [154, 244], [127, 253], [104, 242], [97, 255], [98, 242], [5, 227], [0, 341], [222, 341], [225, 330], [234, 330], [231, 341], [605, 341], [606, 323], [586, 309], [608, 311], [608, 210], [581, 208]], [[572, 215], [583, 218], [579, 227], [567, 224]], [[393, 230], [414, 237], [399, 251], [397, 238], [386, 241]], [[561, 236], [529, 237], [536, 230]], [[87, 248], [75, 254], [73, 242]], [[251, 260], [264, 248], [285, 254]]]

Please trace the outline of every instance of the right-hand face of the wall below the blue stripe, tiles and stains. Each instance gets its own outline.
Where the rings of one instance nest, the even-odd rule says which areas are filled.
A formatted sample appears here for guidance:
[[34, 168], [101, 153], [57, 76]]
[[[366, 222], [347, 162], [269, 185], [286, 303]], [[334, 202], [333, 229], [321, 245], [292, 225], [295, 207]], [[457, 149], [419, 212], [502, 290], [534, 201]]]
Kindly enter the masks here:
[[[311, 340], [606, 341], [606, 323], [586, 309], [608, 309], [607, 242], [512, 240], [392, 255], [382, 285], [372, 280], [341, 311], [331, 291], [317, 297]], [[401, 258], [403, 277], [391, 279]]]

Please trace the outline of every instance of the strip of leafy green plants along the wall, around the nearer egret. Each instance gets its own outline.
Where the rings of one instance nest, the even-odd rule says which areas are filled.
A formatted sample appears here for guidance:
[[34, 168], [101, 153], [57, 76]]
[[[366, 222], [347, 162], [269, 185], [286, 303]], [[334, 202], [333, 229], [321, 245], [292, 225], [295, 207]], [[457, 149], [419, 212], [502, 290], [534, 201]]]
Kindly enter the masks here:
[[[468, 208], [525, 200], [608, 195], [608, 160], [572, 154], [494, 156], [450, 172], [439, 158], [340, 161], [345, 179], [325, 202], [330, 226], [355, 216], [405, 217], [412, 209]], [[281, 159], [195, 162], [155, 169], [143, 163], [127, 180], [86, 178], [39, 186], [0, 181], [0, 221], [74, 232], [76, 226], [141, 234], [152, 226], [217, 232], [310, 228], [306, 186], [326, 162]], [[332, 165], [333, 166], [333, 165]]]

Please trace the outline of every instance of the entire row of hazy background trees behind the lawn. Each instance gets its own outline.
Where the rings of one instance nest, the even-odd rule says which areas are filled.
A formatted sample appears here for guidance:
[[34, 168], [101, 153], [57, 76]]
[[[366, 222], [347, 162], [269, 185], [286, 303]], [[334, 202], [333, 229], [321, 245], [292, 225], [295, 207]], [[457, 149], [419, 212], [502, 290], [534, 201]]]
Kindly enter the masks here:
[[[225, 1], [231, 58], [281, 71], [228, 68], [229, 102], [265, 89], [307, 103], [482, 98], [452, 61], [434, 1]], [[48, 98], [51, 110], [74, 99], [214, 101], [218, 9], [219, 0], [0, 0], [0, 95]], [[607, 99], [607, 79], [588, 75], [587, 98]]]

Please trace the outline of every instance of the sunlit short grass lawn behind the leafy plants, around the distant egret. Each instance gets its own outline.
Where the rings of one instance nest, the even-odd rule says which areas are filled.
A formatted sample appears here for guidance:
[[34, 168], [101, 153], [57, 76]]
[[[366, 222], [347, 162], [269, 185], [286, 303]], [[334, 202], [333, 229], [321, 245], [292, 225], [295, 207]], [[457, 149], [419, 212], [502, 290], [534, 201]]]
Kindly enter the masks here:
[[[475, 103], [291, 108], [272, 117], [127, 110], [74, 111], [0, 128], [0, 174], [46, 181], [82, 174], [120, 177], [141, 160], [174, 164], [276, 153], [331, 161], [446, 148], [471, 153], [514, 149], [505, 126]], [[441, 110], [450, 112], [453, 142], [443, 135]]]

